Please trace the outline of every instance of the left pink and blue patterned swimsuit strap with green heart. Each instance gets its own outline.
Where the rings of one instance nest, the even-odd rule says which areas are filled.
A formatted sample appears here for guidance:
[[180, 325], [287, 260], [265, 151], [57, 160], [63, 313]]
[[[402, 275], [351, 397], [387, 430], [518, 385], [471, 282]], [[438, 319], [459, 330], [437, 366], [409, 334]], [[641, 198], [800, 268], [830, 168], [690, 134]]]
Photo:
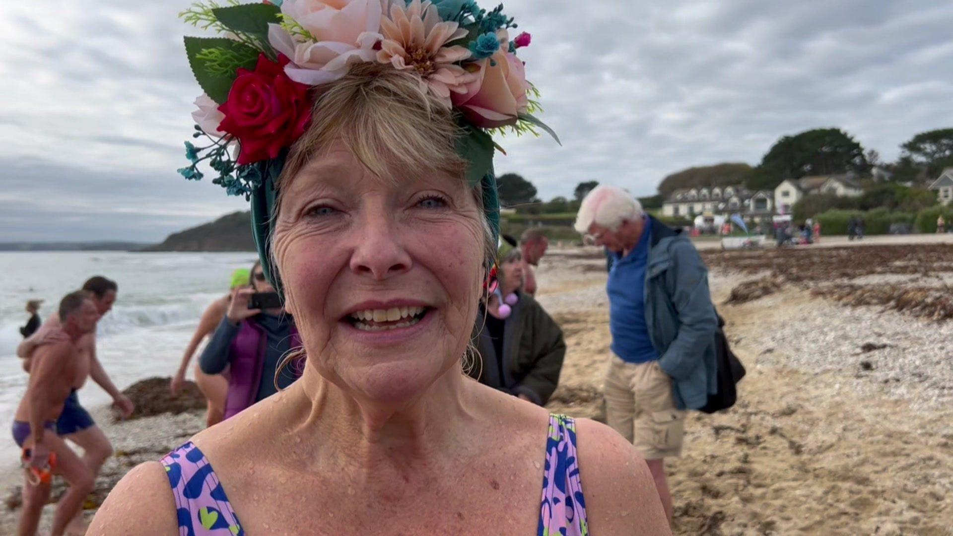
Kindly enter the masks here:
[[215, 476], [212, 464], [192, 442], [165, 458], [180, 536], [240, 536], [245, 531]]

